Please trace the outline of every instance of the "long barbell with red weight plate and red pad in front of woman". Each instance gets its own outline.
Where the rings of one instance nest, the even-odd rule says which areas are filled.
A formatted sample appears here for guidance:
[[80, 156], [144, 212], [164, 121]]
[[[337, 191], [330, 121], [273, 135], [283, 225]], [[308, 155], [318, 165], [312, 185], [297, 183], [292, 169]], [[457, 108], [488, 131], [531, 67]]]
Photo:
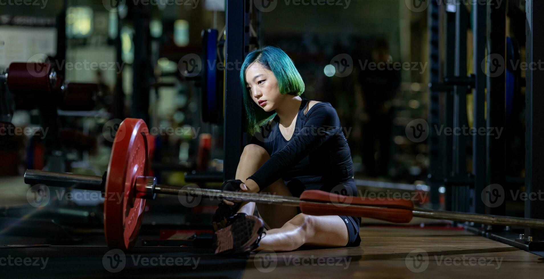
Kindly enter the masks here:
[[300, 207], [309, 215], [347, 215], [385, 220], [395, 223], [410, 222], [413, 216], [505, 225], [544, 228], [544, 220], [483, 215], [441, 210], [415, 209], [410, 200], [368, 199], [344, 196], [320, 190], [306, 190], [300, 198], [263, 193], [240, 193], [157, 184], [149, 176], [149, 131], [141, 119], [127, 118], [115, 135], [108, 170], [104, 176], [75, 175], [40, 170], [27, 170], [24, 182], [53, 187], [73, 187], [100, 190], [104, 200], [104, 234], [110, 249], [131, 249], [138, 238], [146, 200], [157, 194], [211, 197], [257, 203]]

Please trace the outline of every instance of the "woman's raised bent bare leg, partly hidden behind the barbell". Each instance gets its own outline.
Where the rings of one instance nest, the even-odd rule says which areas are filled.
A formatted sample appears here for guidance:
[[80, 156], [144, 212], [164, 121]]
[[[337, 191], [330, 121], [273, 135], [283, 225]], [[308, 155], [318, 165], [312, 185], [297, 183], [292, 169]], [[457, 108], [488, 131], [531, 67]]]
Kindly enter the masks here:
[[[236, 169], [236, 179], [245, 182], [245, 179], [253, 175], [270, 158], [268, 152], [261, 146], [249, 144], [244, 147], [240, 162]], [[262, 194], [292, 196], [287, 186], [280, 178], [269, 185]], [[296, 215], [296, 207], [279, 206], [276, 204], [261, 203], [257, 206], [261, 218], [270, 228], [279, 228]], [[238, 212], [253, 215], [255, 212], [255, 202], [242, 202]]]

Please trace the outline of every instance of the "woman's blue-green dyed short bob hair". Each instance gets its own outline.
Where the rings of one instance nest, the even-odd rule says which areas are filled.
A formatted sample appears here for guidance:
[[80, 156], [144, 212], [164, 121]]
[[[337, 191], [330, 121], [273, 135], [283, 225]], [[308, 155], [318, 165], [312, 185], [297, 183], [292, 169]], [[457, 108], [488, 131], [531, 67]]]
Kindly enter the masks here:
[[[265, 69], [274, 73], [281, 95], [289, 94], [300, 96], [305, 88], [302, 77], [300, 77], [299, 71], [296, 70], [293, 60], [291, 60], [280, 48], [265, 46], [250, 52], [248, 56], [245, 57], [240, 71], [240, 83], [242, 84], [242, 90], [244, 92], [246, 127], [250, 135], [254, 135], [255, 132], [261, 132], [263, 123], [268, 122], [276, 116], [276, 113], [265, 113], [249, 96], [249, 91], [245, 84], [245, 71], [248, 69], [248, 66], [255, 61], [261, 64]], [[257, 121], [256, 108], [259, 119], [262, 119], [261, 117], [266, 117], [260, 122]]]

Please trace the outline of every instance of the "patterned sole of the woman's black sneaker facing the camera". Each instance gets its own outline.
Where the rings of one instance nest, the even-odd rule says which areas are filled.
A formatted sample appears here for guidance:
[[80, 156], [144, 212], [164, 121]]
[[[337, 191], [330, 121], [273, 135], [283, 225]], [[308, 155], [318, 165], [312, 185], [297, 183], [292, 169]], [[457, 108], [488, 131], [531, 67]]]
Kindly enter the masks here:
[[[215, 232], [215, 239], [217, 239], [215, 253], [247, 252], [246, 250], [259, 237], [259, 231], [262, 231], [262, 227], [263, 222], [255, 216], [244, 216], [244, 218], [236, 220], [232, 225]], [[249, 240], [240, 245], [239, 241], [242, 241], [248, 234], [251, 235]]]

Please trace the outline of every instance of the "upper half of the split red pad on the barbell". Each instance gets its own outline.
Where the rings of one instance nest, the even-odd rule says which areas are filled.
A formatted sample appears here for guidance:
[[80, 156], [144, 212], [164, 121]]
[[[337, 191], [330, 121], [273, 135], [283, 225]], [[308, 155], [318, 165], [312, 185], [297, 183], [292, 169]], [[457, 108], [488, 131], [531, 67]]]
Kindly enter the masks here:
[[339, 204], [357, 204], [360, 206], [378, 206], [387, 208], [413, 209], [413, 203], [410, 200], [386, 200], [386, 199], [368, 199], [365, 197], [344, 196], [329, 193], [322, 190], [306, 190], [300, 195], [301, 201], [333, 202]]

